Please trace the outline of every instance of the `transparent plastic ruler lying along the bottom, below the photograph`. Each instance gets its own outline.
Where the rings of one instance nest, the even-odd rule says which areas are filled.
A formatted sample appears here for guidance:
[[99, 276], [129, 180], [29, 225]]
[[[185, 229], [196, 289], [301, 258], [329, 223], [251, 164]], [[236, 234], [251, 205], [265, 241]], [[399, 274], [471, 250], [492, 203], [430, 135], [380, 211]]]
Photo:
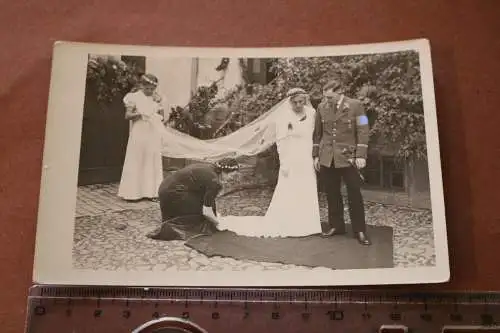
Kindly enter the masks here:
[[27, 333], [499, 332], [499, 293], [34, 286]]

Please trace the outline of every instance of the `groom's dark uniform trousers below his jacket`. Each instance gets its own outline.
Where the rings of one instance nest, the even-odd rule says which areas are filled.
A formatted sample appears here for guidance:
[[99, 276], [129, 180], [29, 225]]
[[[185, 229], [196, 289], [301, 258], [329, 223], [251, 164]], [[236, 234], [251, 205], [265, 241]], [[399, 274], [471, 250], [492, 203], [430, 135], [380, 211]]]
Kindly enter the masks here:
[[[333, 163], [332, 163], [333, 165]], [[365, 232], [365, 209], [361, 195], [361, 179], [358, 171], [350, 167], [321, 166], [320, 177], [328, 201], [328, 223], [339, 232], [345, 231], [344, 202], [341, 193], [342, 180], [347, 188], [349, 216], [353, 232]]]

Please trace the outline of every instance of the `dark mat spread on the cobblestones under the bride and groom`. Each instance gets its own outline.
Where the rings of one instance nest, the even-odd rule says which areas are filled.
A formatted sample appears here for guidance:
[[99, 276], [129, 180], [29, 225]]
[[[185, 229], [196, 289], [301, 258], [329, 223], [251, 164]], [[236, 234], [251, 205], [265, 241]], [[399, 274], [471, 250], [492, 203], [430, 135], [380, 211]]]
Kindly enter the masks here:
[[371, 246], [363, 246], [346, 235], [323, 238], [320, 235], [294, 238], [259, 238], [239, 236], [230, 231], [199, 236], [186, 246], [208, 257], [222, 256], [332, 269], [392, 268], [393, 230], [390, 227], [368, 226]]

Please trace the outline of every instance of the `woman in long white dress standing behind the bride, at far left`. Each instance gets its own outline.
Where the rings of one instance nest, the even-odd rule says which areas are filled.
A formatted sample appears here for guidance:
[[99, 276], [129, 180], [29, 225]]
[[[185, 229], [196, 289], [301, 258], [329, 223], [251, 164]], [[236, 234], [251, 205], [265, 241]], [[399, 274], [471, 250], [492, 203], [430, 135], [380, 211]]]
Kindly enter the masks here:
[[163, 180], [161, 130], [164, 110], [156, 93], [157, 86], [158, 79], [145, 74], [140, 88], [123, 99], [130, 134], [118, 196], [125, 200], [157, 200]]

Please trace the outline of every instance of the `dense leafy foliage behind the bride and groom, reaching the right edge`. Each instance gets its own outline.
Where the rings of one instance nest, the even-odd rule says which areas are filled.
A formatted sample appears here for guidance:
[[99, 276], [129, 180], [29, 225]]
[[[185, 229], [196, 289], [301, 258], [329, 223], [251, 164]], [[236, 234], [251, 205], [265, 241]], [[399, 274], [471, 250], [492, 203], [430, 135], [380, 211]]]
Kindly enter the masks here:
[[365, 105], [372, 142], [393, 144], [400, 158], [426, 157], [418, 53], [278, 58], [272, 60], [271, 70], [276, 75], [272, 82], [236, 87], [216, 102], [231, 105], [234, 119], [243, 126], [272, 108], [293, 87], [309, 91], [317, 105], [321, 87], [336, 78], [348, 96]]

